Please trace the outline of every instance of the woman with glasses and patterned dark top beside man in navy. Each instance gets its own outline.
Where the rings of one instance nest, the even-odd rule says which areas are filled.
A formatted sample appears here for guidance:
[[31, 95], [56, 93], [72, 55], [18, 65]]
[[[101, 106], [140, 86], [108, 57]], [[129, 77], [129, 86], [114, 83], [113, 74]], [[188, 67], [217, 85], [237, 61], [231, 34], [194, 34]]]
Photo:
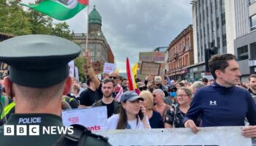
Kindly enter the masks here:
[[184, 128], [182, 122], [184, 115], [189, 110], [192, 98], [192, 90], [190, 88], [179, 88], [177, 91], [177, 106], [172, 105], [165, 115], [165, 128]]

